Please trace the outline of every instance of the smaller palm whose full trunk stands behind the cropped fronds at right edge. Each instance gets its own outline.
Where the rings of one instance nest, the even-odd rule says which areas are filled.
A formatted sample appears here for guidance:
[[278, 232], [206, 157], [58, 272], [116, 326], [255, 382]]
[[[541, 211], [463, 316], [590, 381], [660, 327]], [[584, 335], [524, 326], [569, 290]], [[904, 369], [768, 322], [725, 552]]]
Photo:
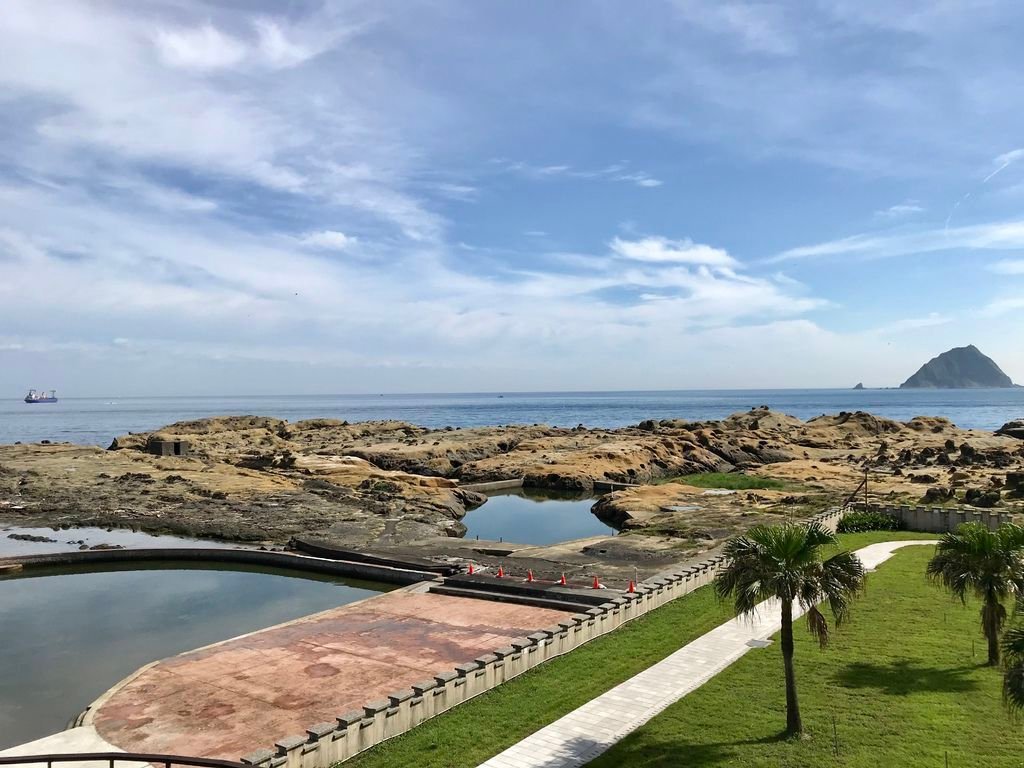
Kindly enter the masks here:
[[981, 600], [981, 631], [988, 641], [988, 664], [999, 664], [999, 635], [1006, 602], [1024, 597], [1024, 526], [1004, 523], [989, 530], [968, 522], [942, 537], [928, 563], [928, 575], [966, 603]]

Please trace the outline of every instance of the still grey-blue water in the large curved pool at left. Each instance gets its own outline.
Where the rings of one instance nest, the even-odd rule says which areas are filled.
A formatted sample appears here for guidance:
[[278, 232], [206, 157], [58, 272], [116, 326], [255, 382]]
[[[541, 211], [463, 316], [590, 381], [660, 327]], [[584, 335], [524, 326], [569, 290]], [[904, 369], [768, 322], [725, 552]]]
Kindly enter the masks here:
[[171, 562], [0, 578], [0, 750], [62, 730], [151, 662], [389, 589], [278, 569]]

